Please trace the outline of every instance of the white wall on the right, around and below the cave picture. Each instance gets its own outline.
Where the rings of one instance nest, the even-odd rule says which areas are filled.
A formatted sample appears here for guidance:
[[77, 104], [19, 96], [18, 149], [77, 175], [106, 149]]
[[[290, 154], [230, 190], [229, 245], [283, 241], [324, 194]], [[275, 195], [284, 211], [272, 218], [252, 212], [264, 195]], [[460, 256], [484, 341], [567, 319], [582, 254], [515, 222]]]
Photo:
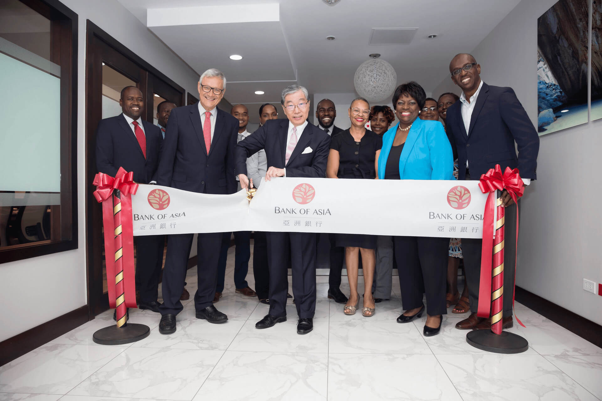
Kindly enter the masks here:
[[[537, 19], [556, 1], [521, 1], [476, 49], [467, 49], [483, 81], [514, 88], [535, 126]], [[446, 77], [433, 93], [450, 90], [460, 93]], [[518, 286], [600, 324], [602, 296], [584, 291], [583, 278], [602, 282], [601, 129], [598, 120], [541, 136], [538, 179], [521, 207], [517, 271]]]

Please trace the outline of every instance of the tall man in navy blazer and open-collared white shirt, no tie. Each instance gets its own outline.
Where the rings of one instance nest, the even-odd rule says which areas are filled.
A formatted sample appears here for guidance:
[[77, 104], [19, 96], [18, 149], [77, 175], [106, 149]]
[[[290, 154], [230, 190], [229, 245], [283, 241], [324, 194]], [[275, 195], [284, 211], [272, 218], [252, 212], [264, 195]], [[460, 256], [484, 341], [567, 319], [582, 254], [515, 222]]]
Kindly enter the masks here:
[[[499, 164], [518, 168], [526, 185], [536, 179], [539, 136], [512, 88], [494, 87], [480, 79], [481, 67], [470, 54], [458, 54], [450, 63], [452, 81], [462, 88], [460, 101], [447, 109], [447, 134], [458, 150], [459, 180], [478, 180]], [[515, 150], [518, 148], [518, 156]], [[504, 240], [503, 327], [512, 327], [512, 292], [516, 256], [517, 208], [503, 192]], [[459, 329], [489, 329], [491, 319], [477, 317], [481, 263], [480, 239], [462, 239], [471, 314], [456, 324]], [[489, 297], [489, 290], [483, 296]]]

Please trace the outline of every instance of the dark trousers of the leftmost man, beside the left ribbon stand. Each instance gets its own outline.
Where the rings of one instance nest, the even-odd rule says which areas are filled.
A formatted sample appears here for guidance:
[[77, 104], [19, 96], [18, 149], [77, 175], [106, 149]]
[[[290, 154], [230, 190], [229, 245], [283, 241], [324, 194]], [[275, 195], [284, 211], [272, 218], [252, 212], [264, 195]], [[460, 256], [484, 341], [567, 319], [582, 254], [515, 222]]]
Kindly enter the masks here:
[[164, 235], [144, 235], [134, 237], [136, 245], [136, 290], [140, 302], [157, 301], [159, 278], [163, 267]]

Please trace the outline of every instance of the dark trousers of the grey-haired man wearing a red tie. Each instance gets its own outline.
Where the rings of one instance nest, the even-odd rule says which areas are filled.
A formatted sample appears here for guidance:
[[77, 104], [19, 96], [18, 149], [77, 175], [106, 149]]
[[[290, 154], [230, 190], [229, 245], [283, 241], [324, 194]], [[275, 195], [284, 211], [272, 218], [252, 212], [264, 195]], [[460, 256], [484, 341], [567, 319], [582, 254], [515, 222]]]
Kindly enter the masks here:
[[[223, 233], [199, 234], [197, 240], [196, 266], [199, 286], [194, 294], [196, 310], [213, 305], [217, 285], [217, 261], [222, 245]], [[167, 236], [167, 255], [163, 271], [163, 304], [159, 307], [161, 314], [178, 314], [182, 310], [180, 296], [184, 289], [186, 268], [193, 234], [175, 234]]]

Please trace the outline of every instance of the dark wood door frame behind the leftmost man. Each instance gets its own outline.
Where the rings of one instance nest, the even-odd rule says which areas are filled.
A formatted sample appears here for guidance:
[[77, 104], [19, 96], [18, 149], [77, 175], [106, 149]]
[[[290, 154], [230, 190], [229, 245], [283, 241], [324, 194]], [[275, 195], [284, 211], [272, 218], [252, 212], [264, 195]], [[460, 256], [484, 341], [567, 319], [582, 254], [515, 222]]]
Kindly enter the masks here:
[[[152, 91], [157, 87], [161, 94], [166, 94], [179, 105], [184, 104], [184, 88], [173, 82], [163, 73], [142, 60], [134, 52], [123, 46], [107, 32], [90, 20], [86, 24], [86, 58], [85, 58], [85, 212], [86, 212], [86, 271], [87, 295], [90, 316], [96, 316], [108, 309], [108, 298], [102, 290], [102, 210], [92, 193], [92, 185], [96, 171], [96, 127], [102, 119], [102, 63], [127, 76], [151, 101], [147, 101], [147, 112], [144, 115], [151, 121]], [[179, 96], [178, 96], [179, 93]]]

